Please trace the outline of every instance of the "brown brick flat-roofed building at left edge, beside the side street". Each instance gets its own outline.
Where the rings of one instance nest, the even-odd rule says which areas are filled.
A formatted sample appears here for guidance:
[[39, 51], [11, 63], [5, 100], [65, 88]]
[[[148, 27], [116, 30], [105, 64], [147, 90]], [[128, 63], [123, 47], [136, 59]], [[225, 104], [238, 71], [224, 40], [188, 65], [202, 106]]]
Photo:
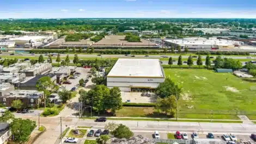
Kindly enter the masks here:
[[38, 108], [44, 92], [36, 90], [13, 90], [0, 97], [0, 103], [5, 107], [11, 107], [13, 101], [20, 99], [26, 107]]

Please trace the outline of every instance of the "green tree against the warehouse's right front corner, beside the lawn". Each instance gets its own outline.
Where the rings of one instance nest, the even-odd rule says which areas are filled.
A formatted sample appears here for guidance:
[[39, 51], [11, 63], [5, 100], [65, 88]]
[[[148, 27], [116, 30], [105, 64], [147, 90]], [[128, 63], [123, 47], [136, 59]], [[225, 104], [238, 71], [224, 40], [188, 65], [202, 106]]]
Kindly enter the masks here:
[[159, 86], [155, 89], [156, 96], [160, 98], [170, 97], [172, 95], [177, 96], [178, 99], [180, 97], [181, 88], [178, 85], [170, 80], [170, 78], [166, 78], [163, 83], [160, 83]]

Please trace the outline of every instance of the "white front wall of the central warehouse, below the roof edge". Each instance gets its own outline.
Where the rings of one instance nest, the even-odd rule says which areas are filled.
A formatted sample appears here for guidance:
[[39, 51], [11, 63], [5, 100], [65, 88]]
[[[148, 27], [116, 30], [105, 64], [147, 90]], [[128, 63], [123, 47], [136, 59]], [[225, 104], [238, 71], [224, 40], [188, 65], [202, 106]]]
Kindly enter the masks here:
[[164, 78], [111, 78], [107, 77], [107, 87], [117, 86], [121, 91], [131, 91], [130, 87], [156, 88]]

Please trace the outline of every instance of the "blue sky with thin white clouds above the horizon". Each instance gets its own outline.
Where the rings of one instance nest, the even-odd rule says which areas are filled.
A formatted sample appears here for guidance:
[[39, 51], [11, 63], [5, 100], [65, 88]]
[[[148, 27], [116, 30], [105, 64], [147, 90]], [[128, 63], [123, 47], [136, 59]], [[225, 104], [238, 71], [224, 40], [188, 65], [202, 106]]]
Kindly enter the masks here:
[[0, 0], [0, 18], [256, 18], [255, 0]]

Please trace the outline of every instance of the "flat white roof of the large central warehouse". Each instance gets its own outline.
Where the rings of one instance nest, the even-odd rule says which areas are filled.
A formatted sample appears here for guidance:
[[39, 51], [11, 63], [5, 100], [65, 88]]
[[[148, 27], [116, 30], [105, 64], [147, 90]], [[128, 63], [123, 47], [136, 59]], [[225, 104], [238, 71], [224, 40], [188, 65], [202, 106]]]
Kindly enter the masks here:
[[159, 59], [118, 59], [107, 77], [163, 78]]

